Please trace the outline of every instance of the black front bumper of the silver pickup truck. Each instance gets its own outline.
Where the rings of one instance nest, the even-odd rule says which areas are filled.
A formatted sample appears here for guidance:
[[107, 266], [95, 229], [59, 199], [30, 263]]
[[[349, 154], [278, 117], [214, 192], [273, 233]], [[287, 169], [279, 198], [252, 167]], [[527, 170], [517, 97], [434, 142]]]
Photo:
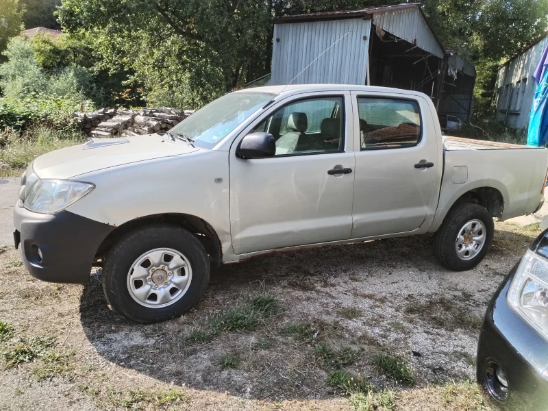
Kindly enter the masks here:
[[95, 252], [114, 227], [68, 211], [39, 214], [15, 206], [14, 242], [36, 279], [87, 284]]

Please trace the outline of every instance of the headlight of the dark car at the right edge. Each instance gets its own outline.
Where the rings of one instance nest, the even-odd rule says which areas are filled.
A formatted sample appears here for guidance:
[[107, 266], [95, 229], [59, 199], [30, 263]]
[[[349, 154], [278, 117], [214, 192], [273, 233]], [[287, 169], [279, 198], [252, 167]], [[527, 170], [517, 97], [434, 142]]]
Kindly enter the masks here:
[[525, 322], [548, 340], [548, 260], [527, 251], [512, 279], [507, 300]]

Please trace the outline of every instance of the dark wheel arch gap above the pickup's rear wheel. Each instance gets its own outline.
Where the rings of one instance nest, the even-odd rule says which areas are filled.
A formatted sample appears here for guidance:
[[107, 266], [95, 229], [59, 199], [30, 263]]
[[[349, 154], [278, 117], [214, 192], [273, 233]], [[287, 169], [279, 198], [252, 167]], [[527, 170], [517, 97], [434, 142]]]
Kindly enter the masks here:
[[469, 190], [465, 192], [458, 192], [451, 201], [447, 202], [447, 206], [443, 212], [436, 213], [432, 227], [430, 227], [429, 231], [437, 231], [443, 221], [445, 221], [449, 212], [463, 203], [478, 204], [479, 206], [486, 208], [493, 218], [501, 219], [504, 211], [505, 197], [499, 188], [493, 186], [478, 186], [469, 188]]

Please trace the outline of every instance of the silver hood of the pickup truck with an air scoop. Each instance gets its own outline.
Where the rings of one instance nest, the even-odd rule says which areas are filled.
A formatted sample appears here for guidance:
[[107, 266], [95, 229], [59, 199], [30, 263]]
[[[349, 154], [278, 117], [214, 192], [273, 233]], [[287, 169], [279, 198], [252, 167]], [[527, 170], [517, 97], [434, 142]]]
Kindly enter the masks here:
[[82, 145], [40, 155], [33, 163], [40, 178], [68, 179], [114, 166], [197, 151], [181, 140], [149, 134], [124, 138], [93, 138]]

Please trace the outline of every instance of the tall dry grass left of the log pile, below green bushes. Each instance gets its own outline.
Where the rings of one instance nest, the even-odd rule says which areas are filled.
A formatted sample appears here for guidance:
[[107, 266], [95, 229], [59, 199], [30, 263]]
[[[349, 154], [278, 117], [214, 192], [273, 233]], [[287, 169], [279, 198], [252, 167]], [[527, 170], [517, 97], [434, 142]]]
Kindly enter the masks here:
[[0, 132], [0, 173], [12, 175], [22, 171], [38, 155], [84, 142], [79, 132], [60, 132], [45, 127], [34, 127], [19, 136], [14, 130]]

